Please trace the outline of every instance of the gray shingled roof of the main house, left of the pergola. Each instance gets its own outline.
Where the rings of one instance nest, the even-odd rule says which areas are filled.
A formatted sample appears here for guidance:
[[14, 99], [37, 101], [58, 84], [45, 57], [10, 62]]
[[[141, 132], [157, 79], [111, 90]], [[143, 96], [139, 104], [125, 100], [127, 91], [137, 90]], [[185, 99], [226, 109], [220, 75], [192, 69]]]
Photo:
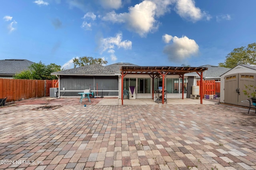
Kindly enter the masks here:
[[111, 65], [100, 65], [100, 64], [92, 64], [92, 65], [85, 65], [82, 67], [77, 67], [73, 69], [67, 69], [63, 71], [57, 71], [51, 73], [51, 75], [115, 75], [120, 74], [121, 66], [138, 66], [131, 63], [114, 63]]

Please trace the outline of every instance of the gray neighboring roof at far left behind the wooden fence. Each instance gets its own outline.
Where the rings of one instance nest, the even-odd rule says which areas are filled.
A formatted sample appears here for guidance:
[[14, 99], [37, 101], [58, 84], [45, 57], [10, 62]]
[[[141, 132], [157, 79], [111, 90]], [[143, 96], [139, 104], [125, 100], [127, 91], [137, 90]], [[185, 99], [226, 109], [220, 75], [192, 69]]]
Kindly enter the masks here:
[[3, 59], [0, 60], [0, 75], [15, 75], [27, 70], [34, 62], [26, 59]]

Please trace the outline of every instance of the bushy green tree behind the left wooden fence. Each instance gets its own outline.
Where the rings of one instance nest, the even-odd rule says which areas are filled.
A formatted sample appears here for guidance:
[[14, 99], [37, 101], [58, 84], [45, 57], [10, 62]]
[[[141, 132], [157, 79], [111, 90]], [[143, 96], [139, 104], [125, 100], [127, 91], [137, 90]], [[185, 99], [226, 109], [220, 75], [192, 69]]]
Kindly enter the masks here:
[[31, 64], [28, 70], [24, 70], [13, 77], [14, 79], [53, 80], [58, 79], [55, 75], [51, 75], [55, 71], [61, 71], [61, 66], [54, 63], [45, 65], [40, 61], [39, 63]]

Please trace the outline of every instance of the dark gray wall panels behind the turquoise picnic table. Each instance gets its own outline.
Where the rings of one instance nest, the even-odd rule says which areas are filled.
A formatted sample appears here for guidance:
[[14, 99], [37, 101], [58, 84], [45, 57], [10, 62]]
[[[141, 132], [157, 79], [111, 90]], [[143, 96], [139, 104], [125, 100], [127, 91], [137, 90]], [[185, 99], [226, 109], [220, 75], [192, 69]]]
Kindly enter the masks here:
[[[85, 89], [94, 91], [97, 96], [118, 96], [118, 76], [60, 76], [60, 95], [79, 96]], [[65, 91], [63, 91], [65, 88]], [[103, 90], [103, 92], [102, 92]], [[65, 93], [64, 93], [65, 92]]]

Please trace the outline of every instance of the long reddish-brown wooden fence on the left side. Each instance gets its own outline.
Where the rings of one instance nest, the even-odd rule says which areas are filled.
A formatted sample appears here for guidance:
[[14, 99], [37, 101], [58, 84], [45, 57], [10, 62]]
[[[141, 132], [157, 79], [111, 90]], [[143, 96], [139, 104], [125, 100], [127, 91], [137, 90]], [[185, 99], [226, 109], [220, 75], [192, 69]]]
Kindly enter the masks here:
[[0, 79], [0, 99], [6, 102], [50, 96], [50, 88], [58, 87], [58, 80]]

